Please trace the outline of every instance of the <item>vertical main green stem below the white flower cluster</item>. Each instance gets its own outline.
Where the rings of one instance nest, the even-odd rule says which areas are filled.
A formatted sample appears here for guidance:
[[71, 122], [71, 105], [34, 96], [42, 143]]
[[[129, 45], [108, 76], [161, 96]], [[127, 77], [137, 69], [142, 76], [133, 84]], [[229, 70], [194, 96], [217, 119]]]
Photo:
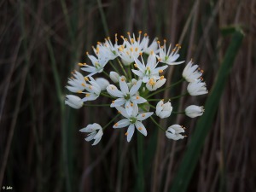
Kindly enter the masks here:
[[144, 191], [143, 175], [143, 134], [137, 132], [137, 191]]

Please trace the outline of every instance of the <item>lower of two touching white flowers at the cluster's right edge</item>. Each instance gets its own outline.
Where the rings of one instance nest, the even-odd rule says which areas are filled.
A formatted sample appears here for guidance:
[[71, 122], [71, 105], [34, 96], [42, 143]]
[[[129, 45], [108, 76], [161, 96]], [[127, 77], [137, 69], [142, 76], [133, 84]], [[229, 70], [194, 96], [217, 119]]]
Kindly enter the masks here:
[[208, 93], [206, 83], [201, 82], [201, 80], [189, 83], [187, 90], [190, 96], [199, 96]]

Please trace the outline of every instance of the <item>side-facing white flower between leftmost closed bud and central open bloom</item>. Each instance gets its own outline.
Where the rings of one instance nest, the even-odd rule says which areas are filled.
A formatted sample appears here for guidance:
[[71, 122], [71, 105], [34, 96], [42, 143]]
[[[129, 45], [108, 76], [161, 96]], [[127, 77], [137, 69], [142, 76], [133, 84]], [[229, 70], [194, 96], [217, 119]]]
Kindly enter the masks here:
[[84, 89], [87, 90], [87, 92], [82, 92], [85, 94], [85, 97], [82, 99], [83, 102], [94, 101], [101, 94], [101, 86], [96, 83], [95, 79], [93, 79], [92, 77], [89, 78], [90, 84], [86, 84], [84, 87]]

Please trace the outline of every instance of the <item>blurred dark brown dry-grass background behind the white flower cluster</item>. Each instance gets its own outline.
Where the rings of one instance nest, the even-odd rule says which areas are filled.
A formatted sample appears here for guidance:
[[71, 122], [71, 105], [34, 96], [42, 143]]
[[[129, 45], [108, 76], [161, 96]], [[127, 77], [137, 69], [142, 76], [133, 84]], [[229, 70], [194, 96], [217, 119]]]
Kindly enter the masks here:
[[[1, 191], [138, 191], [136, 137], [127, 143], [110, 127], [96, 147], [85, 142], [79, 129], [112, 111], [64, 106], [70, 73], [97, 41], [142, 30], [182, 44], [181, 60], [193, 58], [211, 90], [237, 27], [244, 38], [187, 191], [256, 190], [255, 0], [2, 0], [0, 8]], [[185, 97], [179, 108], [206, 99]], [[196, 121], [160, 123], [185, 125], [188, 137], [172, 142], [148, 125], [145, 191], [171, 191]]]

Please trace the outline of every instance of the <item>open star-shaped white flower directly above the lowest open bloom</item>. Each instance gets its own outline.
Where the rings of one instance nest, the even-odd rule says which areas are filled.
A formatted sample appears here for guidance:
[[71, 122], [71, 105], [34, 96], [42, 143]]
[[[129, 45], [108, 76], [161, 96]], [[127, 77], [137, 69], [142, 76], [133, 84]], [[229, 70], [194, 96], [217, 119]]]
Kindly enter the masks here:
[[131, 115], [132, 106], [137, 104], [147, 102], [142, 96], [138, 96], [137, 91], [140, 89], [142, 85], [142, 80], [138, 80], [136, 84], [134, 84], [131, 89], [129, 89], [128, 85], [125, 82], [125, 79], [119, 78], [119, 86], [120, 90], [113, 84], [109, 84], [107, 87], [108, 94], [114, 97], [119, 97], [114, 100], [110, 105], [111, 108], [119, 107], [125, 104], [126, 112]]

